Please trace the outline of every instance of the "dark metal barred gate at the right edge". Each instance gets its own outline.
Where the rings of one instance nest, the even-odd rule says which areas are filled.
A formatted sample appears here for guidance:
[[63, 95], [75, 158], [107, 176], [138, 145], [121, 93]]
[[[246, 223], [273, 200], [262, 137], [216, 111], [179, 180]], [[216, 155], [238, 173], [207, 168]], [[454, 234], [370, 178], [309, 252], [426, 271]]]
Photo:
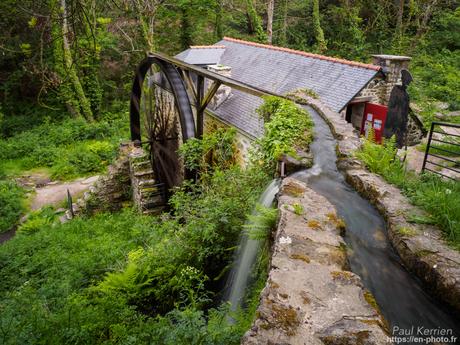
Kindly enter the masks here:
[[[460, 124], [455, 123], [437, 121], [433, 121], [431, 123], [428, 142], [426, 144], [425, 157], [423, 159], [422, 173], [429, 171], [451, 180], [458, 181], [460, 180], [460, 134], [442, 132], [439, 129], [441, 126], [460, 128]], [[435, 135], [433, 136], [433, 134]], [[435, 167], [437, 167], [438, 170], [436, 170]], [[442, 171], [444, 169], [454, 172], [454, 176], [443, 173]]]

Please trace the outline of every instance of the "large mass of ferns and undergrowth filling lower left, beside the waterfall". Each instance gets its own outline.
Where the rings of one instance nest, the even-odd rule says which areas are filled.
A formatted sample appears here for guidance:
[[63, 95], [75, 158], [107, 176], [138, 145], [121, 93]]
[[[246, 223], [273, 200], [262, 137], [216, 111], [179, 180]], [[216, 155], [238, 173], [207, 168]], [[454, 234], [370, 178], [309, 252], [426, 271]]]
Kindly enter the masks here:
[[[204, 143], [232, 134], [214, 137]], [[59, 224], [52, 212], [35, 213], [0, 247], [0, 342], [238, 344], [265, 284], [268, 256], [258, 262], [245, 310], [229, 312], [217, 302], [268, 176], [219, 154], [234, 148], [224, 142], [208, 152], [213, 160], [197, 155], [199, 162], [189, 162], [206, 168], [200, 182], [178, 188], [161, 217], [125, 209]], [[197, 145], [183, 151], [204, 149]]]

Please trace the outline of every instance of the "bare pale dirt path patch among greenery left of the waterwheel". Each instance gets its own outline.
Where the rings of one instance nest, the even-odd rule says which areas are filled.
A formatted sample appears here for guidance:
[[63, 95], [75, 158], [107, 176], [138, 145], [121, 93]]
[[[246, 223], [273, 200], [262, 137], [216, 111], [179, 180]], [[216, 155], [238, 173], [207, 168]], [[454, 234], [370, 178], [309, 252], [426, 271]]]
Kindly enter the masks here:
[[36, 194], [32, 200], [31, 209], [38, 210], [46, 205], [59, 204], [67, 198], [67, 189], [72, 196], [80, 194], [89, 189], [98, 178], [99, 176], [91, 176], [64, 183], [51, 182], [43, 187], [37, 188], [35, 190]]

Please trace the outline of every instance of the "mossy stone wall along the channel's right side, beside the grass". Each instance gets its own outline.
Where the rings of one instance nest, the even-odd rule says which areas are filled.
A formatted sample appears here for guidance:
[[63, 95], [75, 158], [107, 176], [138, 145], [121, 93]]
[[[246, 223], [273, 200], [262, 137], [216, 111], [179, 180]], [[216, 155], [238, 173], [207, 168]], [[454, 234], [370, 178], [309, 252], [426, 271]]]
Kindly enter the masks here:
[[337, 138], [338, 168], [385, 218], [389, 239], [404, 266], [420, 278], [432, 295], [460, 315], [460, 253], [449, 247], [436, 227], [411, 223], [411, 216], [424, 216], [424, 212], [413, 206], [398, 188], [367, 171], [354, 157], [361, 142], [351, 124], [320, 101], [307, 101], [328, 122]]

